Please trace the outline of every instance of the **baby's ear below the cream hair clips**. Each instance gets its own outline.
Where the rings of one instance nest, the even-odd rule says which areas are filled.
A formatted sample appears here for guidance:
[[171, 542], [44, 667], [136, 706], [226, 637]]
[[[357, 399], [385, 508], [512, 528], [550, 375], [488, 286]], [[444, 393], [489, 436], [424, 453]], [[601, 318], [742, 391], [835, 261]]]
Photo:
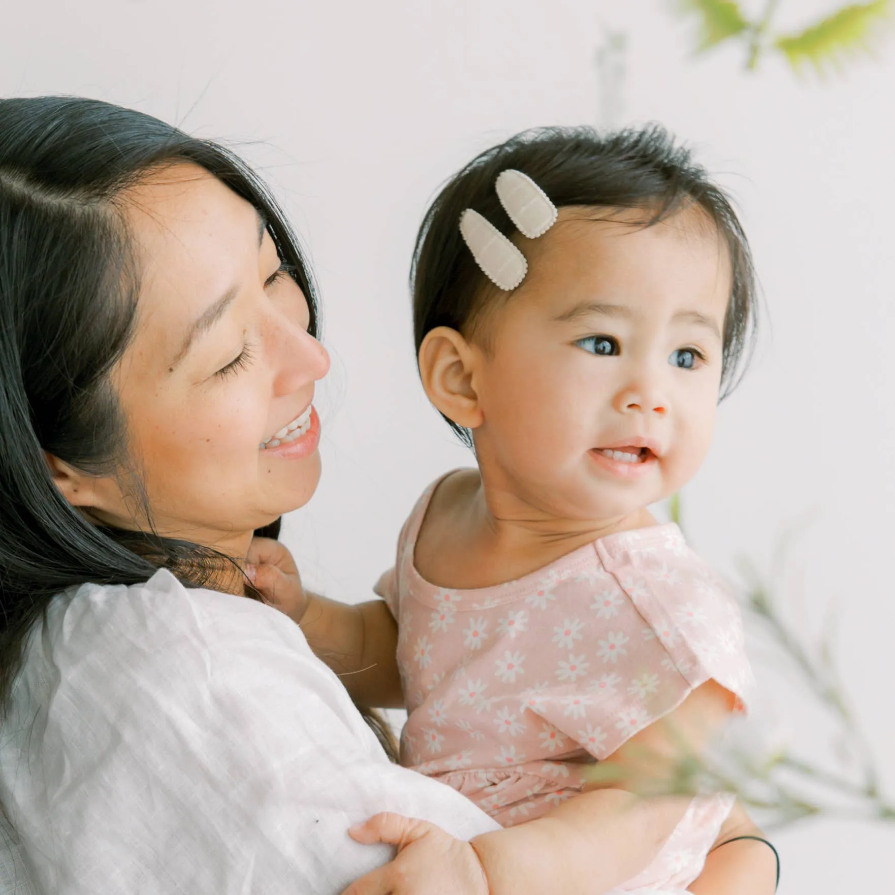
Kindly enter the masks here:
[[482, 352], [449, 327], [426, 333], [420, 345], [422, 388], [435, 407], [465, 429], [482, 425], [482, 408], [475, 392], [475, 372]]

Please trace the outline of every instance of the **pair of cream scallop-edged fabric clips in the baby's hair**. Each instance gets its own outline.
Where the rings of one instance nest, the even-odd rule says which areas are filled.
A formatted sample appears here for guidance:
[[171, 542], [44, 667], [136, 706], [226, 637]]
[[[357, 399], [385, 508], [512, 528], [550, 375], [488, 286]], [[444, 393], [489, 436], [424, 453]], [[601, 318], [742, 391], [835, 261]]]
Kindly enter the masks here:
[[[521, 171], [501, 171], [494, 188], [509, 219], [529, 239], [537, 239], [556, 223], [556, 206]], [[482, 273], [499, 289], [511, 292], [524, 280], [528, 272], [524, 254], [478, 211], [466, 209], [460, 215], [460, 233]]]

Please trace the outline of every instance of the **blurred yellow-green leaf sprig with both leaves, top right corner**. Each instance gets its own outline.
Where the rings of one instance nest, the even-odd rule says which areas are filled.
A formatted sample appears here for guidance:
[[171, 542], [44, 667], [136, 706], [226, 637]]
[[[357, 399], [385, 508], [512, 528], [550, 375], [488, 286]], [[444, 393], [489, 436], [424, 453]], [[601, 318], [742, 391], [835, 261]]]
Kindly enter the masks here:
[[848, 4], [793, 33], [774, 29], [780, 0], [766, 0], [757, 19], [749, 18], [735, 0], [676, 0], [678, 13], [695, 20], [696, 52], [731, 41], [746, 50], [746, 68], [754, 71], [768, 54], [782, 56], [797, 73], [809, 67], [819, 75], [841, 72], [860, 56], [872, 55], [874, 42], [891, 21], [895, 0]]

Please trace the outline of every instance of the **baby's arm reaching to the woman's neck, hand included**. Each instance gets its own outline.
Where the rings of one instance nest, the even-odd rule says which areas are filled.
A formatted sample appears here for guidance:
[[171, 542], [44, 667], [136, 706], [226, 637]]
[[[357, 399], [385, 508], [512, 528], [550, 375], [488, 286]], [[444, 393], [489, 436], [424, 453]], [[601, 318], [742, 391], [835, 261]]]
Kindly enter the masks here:
[[249, 577], [266, 602], [302, 628], [311, 649], [333, 669], [358, 705], [404, 704], [397, 670], [397, 626], [384, 601], [356, 605], [302, 587], [292, 555], [279, 541], [255, 538]]

